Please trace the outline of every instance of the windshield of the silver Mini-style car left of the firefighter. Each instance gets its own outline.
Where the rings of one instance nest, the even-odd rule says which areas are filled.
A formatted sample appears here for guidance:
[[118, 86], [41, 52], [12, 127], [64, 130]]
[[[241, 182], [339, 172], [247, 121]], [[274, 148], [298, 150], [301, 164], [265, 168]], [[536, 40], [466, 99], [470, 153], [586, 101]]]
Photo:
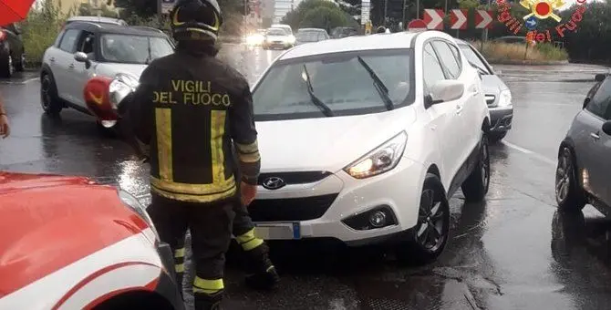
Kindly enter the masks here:
[[174, 52], [170, 42], [160, 36], [107, 34], [100, 38], [102, 59], [124, 64], [148, 64]]

